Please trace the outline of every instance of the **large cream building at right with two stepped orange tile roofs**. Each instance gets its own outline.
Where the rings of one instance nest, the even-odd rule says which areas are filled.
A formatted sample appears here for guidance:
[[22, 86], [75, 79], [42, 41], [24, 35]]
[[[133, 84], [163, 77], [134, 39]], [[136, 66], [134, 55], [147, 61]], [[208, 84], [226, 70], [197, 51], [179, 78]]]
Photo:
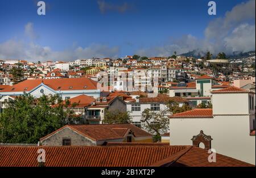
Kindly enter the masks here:
[[171, 145], [202, 145], [255, 164], [254, 102], [254, 92], [234, 86], [212, 91], [213, 109], [193, 109], [171, 116]]

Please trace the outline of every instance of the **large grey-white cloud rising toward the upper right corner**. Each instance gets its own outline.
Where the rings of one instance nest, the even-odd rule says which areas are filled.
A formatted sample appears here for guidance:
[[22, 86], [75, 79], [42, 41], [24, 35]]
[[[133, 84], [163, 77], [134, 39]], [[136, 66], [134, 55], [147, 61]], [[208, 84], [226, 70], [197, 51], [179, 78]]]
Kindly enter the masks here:
[[[253, 22], [253, 24], [249, 24]], [[210, 51], [213, 54], [255, 50], [255, 0], [233, 7], [222, 18], [212, 20], [204, 31], [204, 39], [186, 35], [168, 41], [162, 46], [142, 48], [136, 54], [142, 56], [170, 56], [196, 50], [196, 54]]]

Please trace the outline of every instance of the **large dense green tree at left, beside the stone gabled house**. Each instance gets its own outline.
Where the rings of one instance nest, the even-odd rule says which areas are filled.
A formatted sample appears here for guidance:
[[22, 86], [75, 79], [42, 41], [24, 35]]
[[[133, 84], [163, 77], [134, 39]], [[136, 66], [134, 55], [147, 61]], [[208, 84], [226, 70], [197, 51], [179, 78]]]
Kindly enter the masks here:
[[58, 96], [35, 99], [31, 95], [7, 102], [0, 114], [3, 143], [37, 143], [40, 138], [68, 124], [70, 119], [67, 121], [67, 112], [61, 103]]

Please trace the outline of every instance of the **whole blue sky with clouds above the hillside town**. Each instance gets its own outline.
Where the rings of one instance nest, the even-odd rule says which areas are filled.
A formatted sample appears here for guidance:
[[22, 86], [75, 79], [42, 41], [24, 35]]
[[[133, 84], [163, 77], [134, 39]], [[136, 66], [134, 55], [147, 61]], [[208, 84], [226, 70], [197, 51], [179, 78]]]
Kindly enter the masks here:
[[0, 58], [73, 60], [255, 49], [255, 34], [254, 40], [245, 37], [233, 45], [255, 33], [255, 0], [215, 1], [217, 15], [212, 16], [206, 0], [46, 0], [41, 16], [37, 2], [0, 0]]

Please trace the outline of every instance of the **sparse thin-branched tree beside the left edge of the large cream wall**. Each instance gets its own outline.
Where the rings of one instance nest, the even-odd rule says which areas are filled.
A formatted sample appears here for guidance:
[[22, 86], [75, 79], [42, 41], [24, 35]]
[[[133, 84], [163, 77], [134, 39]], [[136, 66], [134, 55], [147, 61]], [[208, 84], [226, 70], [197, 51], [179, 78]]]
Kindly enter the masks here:
[[159, 112], [151, 111], [151, 109], [145, 109], [142, 112], [142, 125], [148, 132], [155, 135], [155, 142], [160, 141], [160, 135], [166, 133], [169, 129], [169, 117], [167, 114], [167, 109]]

